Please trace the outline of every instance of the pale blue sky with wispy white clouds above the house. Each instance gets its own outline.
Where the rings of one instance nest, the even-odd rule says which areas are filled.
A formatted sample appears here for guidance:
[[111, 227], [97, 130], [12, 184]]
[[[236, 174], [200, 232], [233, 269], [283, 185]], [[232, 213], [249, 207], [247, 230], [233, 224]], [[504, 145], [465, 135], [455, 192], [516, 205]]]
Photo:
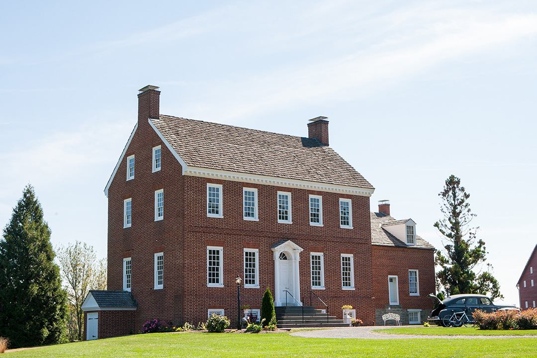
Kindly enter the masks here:
[[462, 179], [505, 301], [537, 243], [533, 1], [4, 2], [0, 225], [34, 187], [55, 246], [106, 255], [103, 190], [136, 122], [161, 113], [330, 144], [440, 248]]

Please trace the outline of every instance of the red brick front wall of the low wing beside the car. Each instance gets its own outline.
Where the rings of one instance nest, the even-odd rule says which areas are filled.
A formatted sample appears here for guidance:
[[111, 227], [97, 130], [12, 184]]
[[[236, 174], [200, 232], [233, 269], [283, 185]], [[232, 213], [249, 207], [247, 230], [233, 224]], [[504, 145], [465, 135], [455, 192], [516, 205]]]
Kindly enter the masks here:
[[[428, 295], [436, 293], [434, 250], [372, 245], [372, 257], [375, 309], [389, 306], [388, 275], [394, 275], [401, 308], [421, 309], [422, 320], [426, 320], [434, 306]], [[410, 296], [409, 269], [418, 270], [419, 296]]]

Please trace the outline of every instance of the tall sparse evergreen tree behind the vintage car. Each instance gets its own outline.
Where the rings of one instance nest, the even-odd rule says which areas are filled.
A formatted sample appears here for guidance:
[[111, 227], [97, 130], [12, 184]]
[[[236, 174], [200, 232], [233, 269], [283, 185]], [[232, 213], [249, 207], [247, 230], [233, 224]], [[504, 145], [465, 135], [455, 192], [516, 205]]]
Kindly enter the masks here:
[[[444, 253], [437, 251], [435, 263], [441, 267], [437, 273], [437, 289], [448, 295], [489, 294], [492, 299], [503, 298], [498, 281], [483, 272], [477, 275], [474, 269], [487, 259], [485, 243], [478, 240], [475, 245], [476, 232], [479, 228], [470, 228], [471, 220], [476, 216], [471, 213], [470, 194], [461, 186], [461, 180], [451, 176], [446, 180], [444, 190], [438, 194], [442, 197], [440, 211], [444, 218], [434, 223], [434, 227], [447, 240]], [[492, 268], [487, 264], [488, 268]]]

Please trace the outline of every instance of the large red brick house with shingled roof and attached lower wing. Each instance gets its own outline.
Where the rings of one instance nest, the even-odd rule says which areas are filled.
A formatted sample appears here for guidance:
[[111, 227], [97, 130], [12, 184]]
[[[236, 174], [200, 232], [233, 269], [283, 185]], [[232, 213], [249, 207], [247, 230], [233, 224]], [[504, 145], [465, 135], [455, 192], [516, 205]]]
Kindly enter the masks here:
[[307, 138], [177, 118], [159, 114], [157, 89], [140, 90], [105, 188], [110, 291], [83, 304], [98, 332], [88, 339], [152, 318], [197, 324], [215, 312], [236, 322], [237, 275], [253, 310], [270, 287], [275, 306], [316, 306], [315, 294], [338, 315], [352, 305], [367, 325], [391, 308], [406, 323], [427, 318], [413, 312], [431, 309], [434, 248], [389, 204], [369, 212], [374, 188], [329, 147], [325, 117], [310, 120]]

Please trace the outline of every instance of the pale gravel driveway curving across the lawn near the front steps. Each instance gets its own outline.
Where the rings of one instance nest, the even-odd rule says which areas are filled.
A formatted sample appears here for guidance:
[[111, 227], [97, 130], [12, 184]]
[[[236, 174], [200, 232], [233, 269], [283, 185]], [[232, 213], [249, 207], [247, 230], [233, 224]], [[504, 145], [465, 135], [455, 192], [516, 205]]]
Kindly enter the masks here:
[[[295, 337], [305, 338], [361, 338], [361, 339], [498, 339], [498, 338], [537, 338], [537, 336], [514, 335], [408, 335], [408, 334], [381, 334], [375, 330], [383, 330], [384, 326], [366, 327], [339, 327], [329, 330], [299, 331], [291, 333]], [[394, 327], [395, 328], [395, 327]]]

